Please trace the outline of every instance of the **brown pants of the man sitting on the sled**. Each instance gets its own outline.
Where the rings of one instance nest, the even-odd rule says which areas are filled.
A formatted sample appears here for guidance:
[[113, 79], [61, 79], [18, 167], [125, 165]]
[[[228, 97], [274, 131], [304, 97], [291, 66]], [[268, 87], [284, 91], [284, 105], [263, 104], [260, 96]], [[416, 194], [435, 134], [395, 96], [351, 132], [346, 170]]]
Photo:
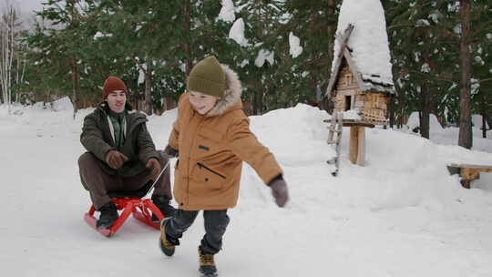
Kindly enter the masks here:
[[[167, 162], [168, 159], [166, 157], [159, 155], [161, 168], [164, 168]], [[86, 152], [78, 158], [78, 169], [80, 178], [86, 184], [87, 187], [85, 189], [89, 191], [90, 199], [96, 210], [99, 210], [102, 205], [111, 200], [108, 194], [140, 190], [150, 180], [150, 169], [145, 169], [138, 175], [131, 177], [108, 174], [99, 167], [96, 156], [90, 152]], [[160, 175], [154, 188], [154, 195], [166, 196], [169, 200], [172, 199], [169, 167]]]

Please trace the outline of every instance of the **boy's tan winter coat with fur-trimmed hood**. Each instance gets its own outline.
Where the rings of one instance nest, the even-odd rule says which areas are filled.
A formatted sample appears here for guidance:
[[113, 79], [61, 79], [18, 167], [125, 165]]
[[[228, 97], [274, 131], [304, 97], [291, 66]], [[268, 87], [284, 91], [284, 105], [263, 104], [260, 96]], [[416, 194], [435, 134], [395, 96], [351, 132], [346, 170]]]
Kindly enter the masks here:
[[238, 200], [242, 161], [256, 170], [265, 184], [282, 174], [272, 153], [256, 139], [242, 111], [237, 74], [221, 65], [227, 89], [204, 116], [190, 105], [190, 93], [179, 97], [178, 118], [169, 146], [179, 150], [174, 197], [182, 210], [224, 210]]

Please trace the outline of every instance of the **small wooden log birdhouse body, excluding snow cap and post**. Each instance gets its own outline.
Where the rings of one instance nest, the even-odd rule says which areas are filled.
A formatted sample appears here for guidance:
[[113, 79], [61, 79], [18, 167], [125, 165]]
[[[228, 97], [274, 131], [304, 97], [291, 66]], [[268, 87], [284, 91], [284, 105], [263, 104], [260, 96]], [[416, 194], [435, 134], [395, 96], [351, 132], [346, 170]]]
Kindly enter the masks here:
[[333, 112], [354, 110], [360, 117], [359, 122], [386, 125], [388, 104], [395, 95], [395, 86], [387, 77], [361, 72], [357, 62], [363, 56], [355, 59], [354, 49], [347, 46], [353, 29], [354, 26], [349, 25], [341, 38], [326, 94], [334, 102]]

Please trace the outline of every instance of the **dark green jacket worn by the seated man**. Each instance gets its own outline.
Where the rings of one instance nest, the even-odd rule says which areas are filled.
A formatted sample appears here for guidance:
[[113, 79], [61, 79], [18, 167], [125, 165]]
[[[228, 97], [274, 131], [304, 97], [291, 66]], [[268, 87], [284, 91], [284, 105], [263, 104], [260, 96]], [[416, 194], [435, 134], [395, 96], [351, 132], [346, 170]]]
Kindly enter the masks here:
[[128, 161], [121, 168], [111, 169], [106, 163], [106, 154], [109, 150], [117, 149], [111, 136], [108, 124], [108, 103], [102, 102], [84, 118], [84, 127], [80, 135], [80, 142], [88, 152], [96, 155], [101, 168], [111, 175], [135, 176], [145, 169], [150, 158], [159, 160], [159, 155], [149, 131], [147, 117], [137, 110], [131, 110], [127, 104], [125, 142], [119, 151], [128, 157]]

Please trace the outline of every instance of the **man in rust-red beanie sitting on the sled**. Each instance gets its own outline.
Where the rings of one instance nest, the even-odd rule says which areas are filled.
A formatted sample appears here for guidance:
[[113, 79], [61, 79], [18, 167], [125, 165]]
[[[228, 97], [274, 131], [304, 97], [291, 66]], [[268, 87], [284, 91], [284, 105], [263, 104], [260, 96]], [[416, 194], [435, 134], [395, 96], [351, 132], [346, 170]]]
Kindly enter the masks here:
[[[159, 154], [146, 127], [147, 117], [127, 103], [127, 86], [118, 77], [104, 83], [103, 102], [84, 118], [80, 142], [87, 149], [78, 159], [80, 178], [96, 210], [97, 228], [108, 229], [118, 220], [118, 210], [108, 194], [145, 190], [168, 163]], [[174, 214], [169, 167], [155, 185], [152, 201], [166, 216]], [[157, 219], [156, 219], [157, 220]]]

